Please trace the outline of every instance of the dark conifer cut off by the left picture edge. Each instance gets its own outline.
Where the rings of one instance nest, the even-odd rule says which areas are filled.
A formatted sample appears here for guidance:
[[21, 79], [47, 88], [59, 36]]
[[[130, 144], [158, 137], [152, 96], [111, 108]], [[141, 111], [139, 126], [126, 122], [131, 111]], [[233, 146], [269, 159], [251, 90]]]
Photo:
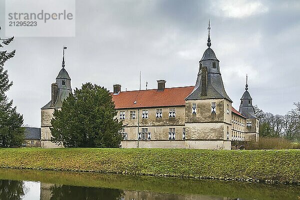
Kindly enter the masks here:
[[[0, 28], [1, 30], [1, 28]], [[8, 45], [13, 37], [0, 38], [0, 47]], [[7, 52], [0, 50], [0, 146], [12, 147], [20, 146], [24, 139], [23, 116], [12, 106], [12, 100], [8, 100], [5, 92], [11, 87], [12, 81], [8, 79], [7, 70], [4, 69], [4, 63], [12, 58], [15, 50]]]

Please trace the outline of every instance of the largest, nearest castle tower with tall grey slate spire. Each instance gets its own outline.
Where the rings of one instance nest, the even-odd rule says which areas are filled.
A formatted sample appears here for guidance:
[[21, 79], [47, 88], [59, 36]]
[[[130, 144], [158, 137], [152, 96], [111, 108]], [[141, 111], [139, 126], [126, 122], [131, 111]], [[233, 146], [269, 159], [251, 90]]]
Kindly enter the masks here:
[[185, 139], [188, 148], [231, 149], [231, 99], [226, 94], [219, 60], [208, 48], [199, 61], [193, 91], [185, 98]]

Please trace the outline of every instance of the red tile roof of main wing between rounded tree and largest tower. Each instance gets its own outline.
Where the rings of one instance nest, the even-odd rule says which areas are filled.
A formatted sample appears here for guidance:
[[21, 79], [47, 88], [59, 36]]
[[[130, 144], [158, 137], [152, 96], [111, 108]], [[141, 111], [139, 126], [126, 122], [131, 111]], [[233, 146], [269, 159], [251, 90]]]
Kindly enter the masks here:
[[193, 88], [194, 86], [186, 86], [165, 88], [163, 91], [157, 89], [121, 91], [119, 94], [112, 94], [112, 100], [115, 108], [185, 105], [184, 98]]

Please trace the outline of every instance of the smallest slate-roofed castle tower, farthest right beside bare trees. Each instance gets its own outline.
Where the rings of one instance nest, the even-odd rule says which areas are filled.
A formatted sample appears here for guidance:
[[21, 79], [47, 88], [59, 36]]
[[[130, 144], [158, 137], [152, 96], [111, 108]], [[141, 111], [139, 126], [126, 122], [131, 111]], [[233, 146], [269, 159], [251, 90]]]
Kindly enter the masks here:
[[259, 122], [254, 113], [252, 98], [248, 92], [248, 76], [246, 76], [245, 91], [240, 98], [239, 113], [246, 117], [245, 140], [258, 141]]

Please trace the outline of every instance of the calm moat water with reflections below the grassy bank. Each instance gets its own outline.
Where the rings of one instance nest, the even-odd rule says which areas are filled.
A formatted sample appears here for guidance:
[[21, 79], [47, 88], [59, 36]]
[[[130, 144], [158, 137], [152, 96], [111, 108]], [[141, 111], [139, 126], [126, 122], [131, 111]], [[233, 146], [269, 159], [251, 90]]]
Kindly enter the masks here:
[[300, 187], [223, 180], [0, 169], [1, 200], [300, 199]]

